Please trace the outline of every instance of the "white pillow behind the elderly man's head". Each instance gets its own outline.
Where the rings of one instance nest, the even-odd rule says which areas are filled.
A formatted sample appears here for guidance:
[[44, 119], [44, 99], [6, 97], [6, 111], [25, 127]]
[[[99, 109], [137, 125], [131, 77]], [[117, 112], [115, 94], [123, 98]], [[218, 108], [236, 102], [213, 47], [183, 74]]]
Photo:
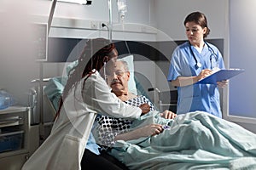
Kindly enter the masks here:
[[133, 55], [128, 55], [124, 58], [120, 58], [118, 60], [124, 60], [127, 62], [129, 71], [130, 71], [130, 80], [128, 82], [128, 90], [132, 94], [137, 95], [137, 88], [136, 88], [136, 82], [134, 80], [134, 64], [133, 64]]

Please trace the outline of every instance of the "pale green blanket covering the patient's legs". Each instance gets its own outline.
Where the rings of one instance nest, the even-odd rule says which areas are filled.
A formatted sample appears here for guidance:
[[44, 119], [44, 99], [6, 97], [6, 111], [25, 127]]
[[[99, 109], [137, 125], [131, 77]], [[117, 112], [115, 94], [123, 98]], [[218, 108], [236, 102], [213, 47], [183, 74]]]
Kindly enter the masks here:
[[196, 111], [166, 120], [154, 111], [133, 123], [168, 125], [160, 135], [119, 140], [110, 151], [130, 169], [256, 169], [256, 134]]

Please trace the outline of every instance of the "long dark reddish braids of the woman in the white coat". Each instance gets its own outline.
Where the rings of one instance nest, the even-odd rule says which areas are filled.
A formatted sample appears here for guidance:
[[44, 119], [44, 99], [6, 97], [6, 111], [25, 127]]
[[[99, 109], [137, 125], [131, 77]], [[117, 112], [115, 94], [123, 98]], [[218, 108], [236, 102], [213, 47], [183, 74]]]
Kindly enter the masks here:
[[[55, 119], [60, 115], [61, 106], [63, 105], [64, 99], [66, 99], [72, 88], [76, 88], [78, 82], [84, 79], [84, 83], [91, 74], [96, 71], [100, 71], [104, 65], [104, 62], [108, 62], [111, 58], [111, 54], [115, 49], [113, 43], [110, 43], [107, 39], [96, 38], [90, 39], [86, 42], [84, 50], [80, 54], [78, 59], [78, 65], [74, 66], [73, 69], [69, 72], [67, 84], [63, 90], [59, 109], [56, 112]], [[91, 56], [91, 57], [90, 57]], [[84, 86], [83, 83], [83, 86]]]

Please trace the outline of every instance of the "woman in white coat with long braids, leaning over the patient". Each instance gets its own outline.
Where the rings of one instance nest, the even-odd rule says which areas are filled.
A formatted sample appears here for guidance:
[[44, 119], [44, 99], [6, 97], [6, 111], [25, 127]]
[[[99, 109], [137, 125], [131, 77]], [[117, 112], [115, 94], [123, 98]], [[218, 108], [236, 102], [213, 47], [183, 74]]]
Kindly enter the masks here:
[[[118, 55], [113, 43], [107, 42], [102, 38], [87, 42], [64, 88], [49, 137], [22, 170], [79, 170], [97, 113], [115, 117], [141, 116], [140, 108], [119, 100], [101, 77], [105, 63], [114, 62]], [[91, 58], [90, 54], [93, 54]]]

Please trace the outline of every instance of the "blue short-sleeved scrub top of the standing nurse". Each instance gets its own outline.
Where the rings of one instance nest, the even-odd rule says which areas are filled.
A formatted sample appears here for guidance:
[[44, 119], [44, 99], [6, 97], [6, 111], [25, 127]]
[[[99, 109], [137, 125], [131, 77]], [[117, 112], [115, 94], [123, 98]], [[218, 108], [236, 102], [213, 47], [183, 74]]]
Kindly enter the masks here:
[[[201, 54], [194, 46], [191, 46], [195, 58], [201, 63], [201, 68], [196, 68], [196, 61], [189, 48], [189, 42], [177, 46], [172, 54], [169, 69], [168, 81], [176, 80], [177, 77], [194, 77], [204, 69], [212, 69], [212, 65], [218, 65], [224, 69], [224, 60], [218, 48], [208, 43]], [[213, 52], [216, 55], [212, 55]], [[212, 62], [211, 59], [212, 58]], [[216, 58], [216, 59], [215, 59]], [[222, 117], [219, 104], [218, 86], [214, 84], [193, 84], [185, 87], [177, 87], [177, 114], [184, 114], [190, 111], [207, 111], [208, 113]]]

